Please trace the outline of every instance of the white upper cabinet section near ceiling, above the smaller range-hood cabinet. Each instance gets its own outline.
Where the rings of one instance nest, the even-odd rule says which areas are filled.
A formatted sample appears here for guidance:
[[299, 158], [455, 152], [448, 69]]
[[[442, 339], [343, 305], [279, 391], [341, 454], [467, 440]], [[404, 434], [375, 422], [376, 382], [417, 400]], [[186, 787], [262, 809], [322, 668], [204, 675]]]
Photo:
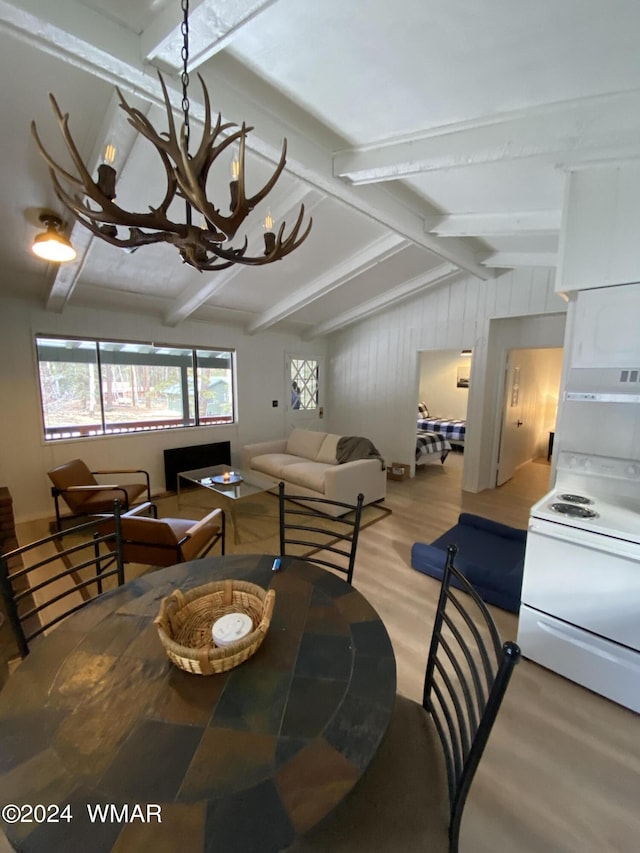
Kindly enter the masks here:
[[640, 162], [568, 174], [559, 257], [556, 291], [640, 282]]

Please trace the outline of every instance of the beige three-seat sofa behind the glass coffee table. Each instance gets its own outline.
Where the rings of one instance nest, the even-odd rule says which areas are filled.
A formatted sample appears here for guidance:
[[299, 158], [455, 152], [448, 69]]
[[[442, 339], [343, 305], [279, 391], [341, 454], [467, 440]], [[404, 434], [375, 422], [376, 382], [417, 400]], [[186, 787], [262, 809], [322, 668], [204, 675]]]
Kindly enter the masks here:
[[[339, 435], [294, 429], [289, 438], [247, 444], [242, 448], [242, 467], [282, 480], [285, 492], [328, 498], [355, 504], [382, 500], [387, 493], [387, 472], [378, 458], [355, 459], [338, 464]], [[334, 515], [340, 515], [338, 509]]]

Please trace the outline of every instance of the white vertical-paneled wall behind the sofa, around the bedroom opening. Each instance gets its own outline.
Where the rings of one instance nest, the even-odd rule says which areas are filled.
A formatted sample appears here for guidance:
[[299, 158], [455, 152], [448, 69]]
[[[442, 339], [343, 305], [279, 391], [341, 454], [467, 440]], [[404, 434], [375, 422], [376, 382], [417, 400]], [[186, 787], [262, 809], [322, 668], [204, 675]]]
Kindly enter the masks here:
[[[491, 366], [495, 371], [500, 361], [490, 358], [490, 321], [561, 315], [548, 342], [520, 344], [561, 345], [557, 329], [564, 328], [566, 303], [554, 291], [554, 275], [553, 269], [522, 269], [490, 281], [460, 277], [332, 336], [327, 407], [331, 431], [366, 435], [387, 461], [412, 464], [418, 351], [473, 349], [465, 488], [487, 488], [497, 405], [495, 377], [488, 383], [487, 370]], [[544, 316], [540, 320], [544, 324]], [[537, 323], [534, 334], [544, 338], [543, 325]]]

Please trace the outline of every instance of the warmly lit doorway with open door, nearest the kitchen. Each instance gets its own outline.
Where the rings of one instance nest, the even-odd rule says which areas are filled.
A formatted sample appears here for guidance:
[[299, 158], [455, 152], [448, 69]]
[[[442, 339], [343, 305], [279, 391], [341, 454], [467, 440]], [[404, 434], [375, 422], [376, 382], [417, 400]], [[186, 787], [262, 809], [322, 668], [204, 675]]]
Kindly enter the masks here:
[[560, 393], [561, 347], [505, 353], [496, 486], [533, 459], [547, 459]]

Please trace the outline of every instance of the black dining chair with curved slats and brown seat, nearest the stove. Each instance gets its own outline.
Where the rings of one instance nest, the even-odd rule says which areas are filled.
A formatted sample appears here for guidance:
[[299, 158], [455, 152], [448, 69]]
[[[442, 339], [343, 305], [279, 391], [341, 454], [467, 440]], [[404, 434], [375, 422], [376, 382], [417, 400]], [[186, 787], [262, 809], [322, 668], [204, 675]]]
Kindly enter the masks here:
[[[454, 567], [455, 554], [452, 545], [422, 703], [396, 697], [371, 766], [291, 853], [457, 853], [469, 788], [520, 649], [502, 644], [486, 605]], [[454, 578], [464, 593], [452, 586]]]

